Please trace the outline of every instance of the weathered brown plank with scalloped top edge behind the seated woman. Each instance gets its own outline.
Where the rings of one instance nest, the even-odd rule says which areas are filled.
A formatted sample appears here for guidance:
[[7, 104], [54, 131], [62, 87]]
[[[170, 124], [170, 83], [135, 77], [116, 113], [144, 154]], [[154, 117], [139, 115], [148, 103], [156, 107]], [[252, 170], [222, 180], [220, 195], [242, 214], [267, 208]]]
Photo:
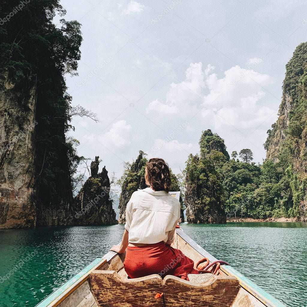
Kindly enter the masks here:
[[[124, 279], [115, 271], [95, 270], [91, 290], [99, 307], [230, 307], [240, 286], [234, 277], [211, 275], [203, 283], [192, 283], [167, 275]], [[157, 293], [164, 296], [155, 299]], [[165, 304], [165, 305], [164, 305]]]

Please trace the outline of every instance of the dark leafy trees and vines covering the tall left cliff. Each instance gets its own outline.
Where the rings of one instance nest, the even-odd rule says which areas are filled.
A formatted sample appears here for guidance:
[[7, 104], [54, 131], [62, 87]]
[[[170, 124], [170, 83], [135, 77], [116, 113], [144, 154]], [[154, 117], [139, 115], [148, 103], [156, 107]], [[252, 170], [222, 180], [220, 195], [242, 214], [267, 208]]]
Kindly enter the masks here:
[[[19, 4], [18, 0], [3, 1], [1, 16], [10, 15]], [[77, 21], [61, 19], [60, 27], [53, 24], [56, 14], [65, 13], [59, 0], [31, 0], [0, 27], [2, 77], [25, 99], [33, 95], [26, 89], [35, 88], [38, 211], [41, 206], [72, 201], [72, 177], [81, 160], [75, 150], [77, 141], [65, 136], [73, 128], [73, 108], [64, 75], [76, 74], [82, 36]]]

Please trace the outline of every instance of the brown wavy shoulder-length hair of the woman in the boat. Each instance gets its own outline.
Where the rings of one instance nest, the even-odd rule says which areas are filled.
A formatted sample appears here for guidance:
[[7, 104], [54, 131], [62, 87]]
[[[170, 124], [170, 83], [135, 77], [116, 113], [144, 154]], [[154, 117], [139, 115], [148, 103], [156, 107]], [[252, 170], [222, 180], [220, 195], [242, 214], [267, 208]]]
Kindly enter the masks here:
[[146, 162], [147, 180], [155, 191], [169, 192], [171, 173], [169, 165], [161, 158], [151, 158]]

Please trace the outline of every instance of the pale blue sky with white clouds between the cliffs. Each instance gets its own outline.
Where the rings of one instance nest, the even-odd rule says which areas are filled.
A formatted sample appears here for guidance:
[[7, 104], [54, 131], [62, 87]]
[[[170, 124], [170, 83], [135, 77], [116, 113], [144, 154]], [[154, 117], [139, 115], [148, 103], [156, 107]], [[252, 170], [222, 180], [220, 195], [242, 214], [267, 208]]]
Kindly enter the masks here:
[[83, 33], [68, 93], [74, 106], [99, 118], [73, 118], [70, 135], [80, 141], [80, 155], [99, 156], [99, 169], [106, 165], [117, 178], [139, 150], [180, 173], [188, 155], [199, 152], [202, 131], [211, 129], [230, 154], [250, 148], [262, 163], [285, 65], [306, 41], [305, 1], [61, 4]]

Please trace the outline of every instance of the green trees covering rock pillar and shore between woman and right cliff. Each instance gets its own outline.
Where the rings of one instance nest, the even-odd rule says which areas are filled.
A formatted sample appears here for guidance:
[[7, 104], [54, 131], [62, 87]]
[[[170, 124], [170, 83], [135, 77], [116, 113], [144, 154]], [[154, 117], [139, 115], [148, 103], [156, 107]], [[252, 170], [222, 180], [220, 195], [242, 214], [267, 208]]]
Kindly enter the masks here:
[[210, 144], [224, 144], [223, 139], [211, 134], [210, 130], [203, 132], [200, 156], [188, 157], [184, 200], [188, 222], [221, 223], [225, 221], [224, 212], [227, 218], [235, 219], [299, 215], [295, 198], [301, 199], [302, 195], [293, 191], [300, 182], [297, 177], [293, 181], [291, 167], [284, 170], [280, 163], [270, 160], [256, 165], [248, 148], [239, 152], [243, 161], [236, 160], [236, 151], [232, 152], [232, 159], [227, 159], [224, 145], [218, 147], [220, 152]]

